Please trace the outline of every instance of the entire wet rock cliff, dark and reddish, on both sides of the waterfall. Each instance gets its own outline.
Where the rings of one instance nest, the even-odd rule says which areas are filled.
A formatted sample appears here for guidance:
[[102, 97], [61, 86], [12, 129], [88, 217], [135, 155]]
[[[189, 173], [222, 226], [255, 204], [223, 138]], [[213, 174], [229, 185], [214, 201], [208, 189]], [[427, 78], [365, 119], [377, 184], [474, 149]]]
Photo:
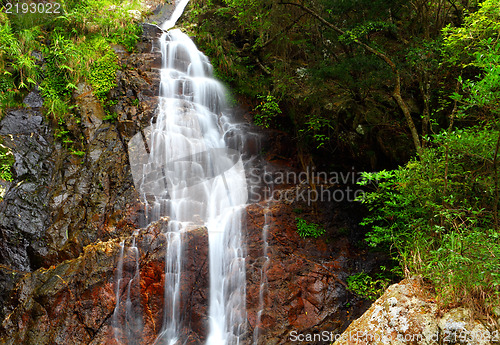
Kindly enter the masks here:
[[[161, 332], [162, 229], [168, 219], [146, 227], [127, 151], [130, 138], [154, 119], [158, 103], [160, 31], [154, 25], [143, 28], [136, 52], [115, 47], [126, 66], [110, 94], [115, 121], [105, 119], [89, 85], [78, 85], [73, 95], [82, 121], [67, 126], [83, 138], [85, 155], [73, 155], [53, 139], [53, 125], [42, 115], [43, 99], [36, 90], [25, 99], [26, 107], [7, 111], [0, 122], [3, 145], [15, 157], [14, 180], [4, 183], [0, 203], [2, 344], [115, 344], [126, 336], [132, 314], [139, 326], [129, 344], [151, 344]], [[252, 140], [248, 147], [256, 153]], [[285, 162], [279, 169], [286, 165], [293, 164]], [[292, 331], [341, 332], [366, 309], [366, 301], [348, 292], [345, 283], [348, 272], [369, 270], [373, 262], [356, 246], [359, 214], [352, 207], [331, 202], [313, 209], [302, 202], [275, 201], [247, 208], [246, 343], [258, 338], [259, 344], [287, 344]], [[298, 236], [299, 208], [305, 216], [319, 209], [327, 227], [323, 237]], [[340, 232], [346, 228], [348, 233]], [[184, 236], [183, 332], [190, 344], [201, 344], [208, 325], [208, 239], [204, 228]]]

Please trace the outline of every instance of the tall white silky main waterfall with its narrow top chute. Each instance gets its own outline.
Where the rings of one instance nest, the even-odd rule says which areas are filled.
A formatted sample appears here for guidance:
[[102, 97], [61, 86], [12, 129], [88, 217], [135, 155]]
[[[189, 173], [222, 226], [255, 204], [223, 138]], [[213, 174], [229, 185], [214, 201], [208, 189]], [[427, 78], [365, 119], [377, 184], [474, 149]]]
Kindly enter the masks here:
[[[188, 1], [181, 1], [169, 29]], [[180, 315], [183, 234], [206, 227], [209, 238], [209, 334], [207, 345], [241, 343], [246, 331], [246, 273], [242, 230], [248, 198], [241, 154], [227, 147], [232, 126], [225, 89], [212, 77], [208, 58], [178, 29], [160, 38], [162, 69], [158, 115], [129, 143], [136, 188], [147, 221], [170, 218], [164, 234], [163, 326], [155, 344], [185, 339]]]

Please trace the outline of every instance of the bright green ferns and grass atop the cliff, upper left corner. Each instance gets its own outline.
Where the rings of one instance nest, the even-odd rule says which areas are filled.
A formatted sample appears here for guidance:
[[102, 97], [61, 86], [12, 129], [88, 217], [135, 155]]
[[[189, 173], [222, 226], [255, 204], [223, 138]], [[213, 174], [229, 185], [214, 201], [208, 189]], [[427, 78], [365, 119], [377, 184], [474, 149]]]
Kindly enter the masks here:
[[[25, 4], [30, 2], [25, 2]], [[19, 3], [22, 4], [22, 3]], [[60, 7], [23, 6], [0, 12], [0, 114], [22, 103], [38, 87], [46, 115], [57, 124], [55, 136], [81, 155], [80, 119], [73, 92], [88, 83], [106, 106], [119, 68], [112, 48], [133, 50], [140, 37], [140, 1], [66, 0]], [[8, 13], [7, 13], [8, 12]], [[70, 128], [73, 128], [71, 130]]]

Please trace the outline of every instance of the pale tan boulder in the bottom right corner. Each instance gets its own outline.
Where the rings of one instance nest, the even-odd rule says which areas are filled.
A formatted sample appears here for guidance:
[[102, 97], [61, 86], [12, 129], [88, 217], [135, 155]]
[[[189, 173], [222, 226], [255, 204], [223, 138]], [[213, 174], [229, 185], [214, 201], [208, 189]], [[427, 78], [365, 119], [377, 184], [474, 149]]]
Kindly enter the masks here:
[[498, 331], [490, 332], [465, 308], [443, 314], [433, 296], [416, 278], [394, 284], [344, 333], [337, 334], [335, 345], [486, 345], [500, 341]]

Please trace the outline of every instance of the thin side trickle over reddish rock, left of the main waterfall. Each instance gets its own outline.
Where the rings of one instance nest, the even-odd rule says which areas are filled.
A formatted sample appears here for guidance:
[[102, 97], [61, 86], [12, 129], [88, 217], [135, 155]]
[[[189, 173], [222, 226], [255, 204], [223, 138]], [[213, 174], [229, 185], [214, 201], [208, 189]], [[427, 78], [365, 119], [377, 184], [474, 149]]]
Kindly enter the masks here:
[[120, 243], [115, 279], [116, 305], [111, 317], [114, 338], [118, 344], [138, 345], [141, 340], [143, 328], [140, 305], [141, 279], [136, 236], [137, 232], [134, 233], [128, 248], [125, 247], [125, 241]]

